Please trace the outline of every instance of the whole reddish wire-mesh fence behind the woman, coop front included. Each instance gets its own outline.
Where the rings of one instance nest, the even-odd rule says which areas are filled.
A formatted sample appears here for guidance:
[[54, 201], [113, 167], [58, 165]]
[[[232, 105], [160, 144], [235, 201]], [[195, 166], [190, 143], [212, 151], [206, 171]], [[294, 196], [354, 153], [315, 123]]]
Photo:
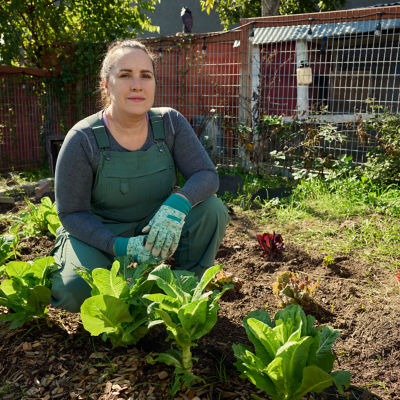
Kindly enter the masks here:
[[[143, 42], [157, 59], [155, 106], [180, 111], [217, 165], [268, 167], [271, 152], [286, 152], [291, 167], [291, 150], [304, 153], [310, 138], [313, 157], [365, 161], [374, 146], [365, 121], [400, 111], [399, 35], [393, 6]], [[92, 76], [60, 88], [54, 77], [0, 71], [0, 170], [40, 165], [49, 138], [99, 109], [97, 86]]]

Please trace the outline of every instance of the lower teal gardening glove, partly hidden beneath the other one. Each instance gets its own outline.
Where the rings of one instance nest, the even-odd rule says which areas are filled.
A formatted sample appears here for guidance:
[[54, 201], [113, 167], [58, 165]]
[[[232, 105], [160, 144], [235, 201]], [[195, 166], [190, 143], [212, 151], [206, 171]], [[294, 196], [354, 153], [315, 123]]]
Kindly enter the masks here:
[[117, 237], [114, 242], [114, 253], [116, 256], [128, 256], [131, 261], [139, 264], [149, 262], [150, 264], [161, 264], [160, 257], [153, 257], [150, 251], [144, 248], [146, 236], [134, 236], [130, 238]]

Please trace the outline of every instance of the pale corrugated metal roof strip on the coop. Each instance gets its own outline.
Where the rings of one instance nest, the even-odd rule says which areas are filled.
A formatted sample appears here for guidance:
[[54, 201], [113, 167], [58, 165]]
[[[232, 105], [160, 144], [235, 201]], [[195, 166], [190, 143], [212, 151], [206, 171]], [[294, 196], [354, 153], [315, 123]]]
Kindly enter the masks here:
[[[378, 20], [371, 21], [349, 21], [332, 24], [311, 25], [312, 37], [322, 38], [324, 36], [344, 36], [352, 33], [373, 32]], [[400, 19], [382, 19], [382, 30], [400, 27]], [[273, 26], [254, 29], [253, 44], [278, 43], [290, 40], [307, 39], [310, 25]]]

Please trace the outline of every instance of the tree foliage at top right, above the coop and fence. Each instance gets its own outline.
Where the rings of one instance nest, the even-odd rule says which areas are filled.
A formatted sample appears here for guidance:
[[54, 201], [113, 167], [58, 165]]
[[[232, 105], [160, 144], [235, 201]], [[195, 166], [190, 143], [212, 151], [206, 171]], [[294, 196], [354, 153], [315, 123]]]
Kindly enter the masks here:
[[240, 18], [268, 15], [302, 14], [340, 9], [346, 0], [200, 0], [202, 10], [208, 14], [215, 8], [225, 29], [237, 24]]

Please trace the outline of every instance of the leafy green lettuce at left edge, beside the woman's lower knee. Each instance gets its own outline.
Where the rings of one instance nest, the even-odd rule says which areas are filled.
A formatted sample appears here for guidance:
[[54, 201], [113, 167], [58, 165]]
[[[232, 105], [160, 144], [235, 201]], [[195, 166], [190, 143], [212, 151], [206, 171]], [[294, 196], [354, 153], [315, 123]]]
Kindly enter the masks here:
[[48, 312], [50, 274], [56, 267], [53, 257], [37, 258], [32, 264], [22, 261], [6, 264], [3, 273], [7, 279], [0, 285], [0, 305], [11, 312], [0, 314], [0, 320], [11, 322], [10, 329], [42, 318]]

